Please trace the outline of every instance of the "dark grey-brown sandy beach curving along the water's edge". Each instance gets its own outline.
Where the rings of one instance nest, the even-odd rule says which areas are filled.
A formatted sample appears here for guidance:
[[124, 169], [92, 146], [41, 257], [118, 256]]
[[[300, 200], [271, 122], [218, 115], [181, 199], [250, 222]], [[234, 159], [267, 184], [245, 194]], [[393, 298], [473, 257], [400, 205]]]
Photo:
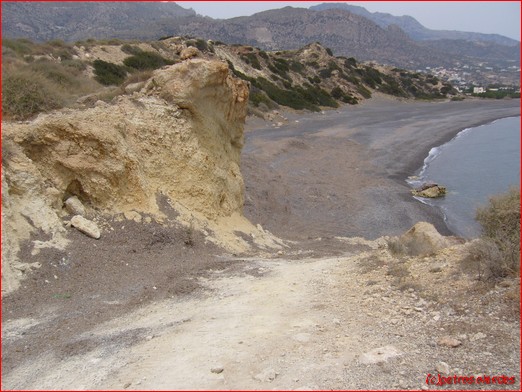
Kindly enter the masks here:
[[402, 102], [379, 96], [286, 124], [247, 124], [245, 215], [292, 239], [398, 235], [418, 221], [451, 234], [406, 183], [432, 147], [458, 132], [520, 115], [519, 100]]

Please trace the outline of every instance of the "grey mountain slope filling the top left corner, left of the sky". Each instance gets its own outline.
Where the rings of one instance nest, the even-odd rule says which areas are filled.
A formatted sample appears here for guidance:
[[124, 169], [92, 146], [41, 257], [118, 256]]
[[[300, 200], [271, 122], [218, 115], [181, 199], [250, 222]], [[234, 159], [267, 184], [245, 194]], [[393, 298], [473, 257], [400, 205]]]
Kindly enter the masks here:
[[74, 42], [157, 39], [161, 26], [196, 13], [171, 2], [2, 2], [2, 15], [4, 37]]

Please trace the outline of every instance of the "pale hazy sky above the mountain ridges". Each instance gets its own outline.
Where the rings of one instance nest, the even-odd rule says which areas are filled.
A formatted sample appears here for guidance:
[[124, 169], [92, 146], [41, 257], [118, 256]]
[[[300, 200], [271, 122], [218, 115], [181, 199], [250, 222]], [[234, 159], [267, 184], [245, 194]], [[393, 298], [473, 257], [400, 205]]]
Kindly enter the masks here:
[[[324, 1], [328, 2], [328, 1]], [[331, 2], [331, 1], [330, 1]], [[321, 1], [176, 1], [200, 15], [226, 19], [252, 15], [267, 9], [308, 8]], [[496, 33], [520, 40], [519, 1], [346, 1], [370, 12], [410, 15], [436, 30]]]

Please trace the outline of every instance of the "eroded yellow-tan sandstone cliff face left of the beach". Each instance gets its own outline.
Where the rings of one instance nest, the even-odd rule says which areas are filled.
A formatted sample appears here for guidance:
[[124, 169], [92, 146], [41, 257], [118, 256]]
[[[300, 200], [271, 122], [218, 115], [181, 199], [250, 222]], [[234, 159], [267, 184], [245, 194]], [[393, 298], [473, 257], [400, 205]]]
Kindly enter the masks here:
[[2, 124], [4, 278], [15, 274], [19, 243], [31, 232], [65, 246], [70, 196], [91, 217], [161, 217], [158, 195], [201, 219], [241, 217], [247, 103], [247, 84], [226, 63], [194, 59], [156, 71], [140, 92], [113, 104]]

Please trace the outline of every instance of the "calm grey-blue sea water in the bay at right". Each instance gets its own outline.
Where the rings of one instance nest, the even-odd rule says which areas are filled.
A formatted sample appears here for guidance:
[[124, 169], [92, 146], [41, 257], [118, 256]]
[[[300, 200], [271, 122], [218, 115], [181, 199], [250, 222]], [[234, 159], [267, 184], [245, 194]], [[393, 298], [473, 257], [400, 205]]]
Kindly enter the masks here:
[[447, 194], [442, 198], [416, 199], [440, 209], [455, 235], [478, 237], [477, 207], [510, 187], [520, 188], [520, 117], [464, 129], [448, 143], [432, 148], [423, 167], [407, 182], [413, 188], [427, 182], [445, 186]]

